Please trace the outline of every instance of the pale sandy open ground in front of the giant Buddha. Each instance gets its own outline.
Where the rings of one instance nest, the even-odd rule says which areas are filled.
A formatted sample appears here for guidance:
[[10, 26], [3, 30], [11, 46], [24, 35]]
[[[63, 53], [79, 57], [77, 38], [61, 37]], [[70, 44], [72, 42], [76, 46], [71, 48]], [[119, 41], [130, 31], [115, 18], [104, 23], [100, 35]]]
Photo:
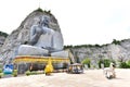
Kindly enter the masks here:
[[107, 79], [103, 70], [87, 70], [83, 74], [53, 73], [0, 79], [0, 87], [130, 87], [130, 70], [116, 69], [117, 77]]

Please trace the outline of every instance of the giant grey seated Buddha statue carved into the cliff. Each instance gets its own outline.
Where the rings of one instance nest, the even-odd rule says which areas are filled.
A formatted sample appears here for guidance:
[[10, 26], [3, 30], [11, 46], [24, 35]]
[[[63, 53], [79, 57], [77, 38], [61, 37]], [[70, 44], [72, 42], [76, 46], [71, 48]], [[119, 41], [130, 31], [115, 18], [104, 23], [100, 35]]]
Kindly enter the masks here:
[[39, 23], [30, 28], [29, 45], [21, 45], [17, 54], [68, 57], [68, 52], [63, 51], [62, 34], [50, 28], [49, 24], [49, 16], [40, 16]]

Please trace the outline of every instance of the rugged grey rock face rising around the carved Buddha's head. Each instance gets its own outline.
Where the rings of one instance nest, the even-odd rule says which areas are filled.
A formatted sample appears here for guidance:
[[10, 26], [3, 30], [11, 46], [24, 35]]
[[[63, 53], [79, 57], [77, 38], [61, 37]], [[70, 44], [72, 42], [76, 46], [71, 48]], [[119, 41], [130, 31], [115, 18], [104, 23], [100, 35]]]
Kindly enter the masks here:
[[[5, 39], [0, 50], [0, 58], [4, 61], [3, 63], [11, 63], [12, 59], [17, 54], [17, 49], [21, 45], [27, 45], [30, 39], [30, 28], [32, 25], [37, 25], [39, 16], [48, 15], [50, 17], [49, 27], [55, 32], [61, 33], [60, 26], [56, 18], [47, 11], [36, 10], [30, 13], [21, 24], [21, 26], [13, 30], [12, 34]], [[61, 33], [62, 34], [62, 33]]]

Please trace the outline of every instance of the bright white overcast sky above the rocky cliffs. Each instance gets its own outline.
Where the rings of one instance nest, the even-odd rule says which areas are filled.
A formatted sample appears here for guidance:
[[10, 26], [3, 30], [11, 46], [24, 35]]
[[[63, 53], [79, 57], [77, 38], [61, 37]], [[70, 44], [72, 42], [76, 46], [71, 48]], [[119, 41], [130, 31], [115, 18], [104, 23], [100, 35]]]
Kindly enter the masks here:
[[130, 38], [129, 0], [0, 0], [0, 30], [11, 34], [39, 5], [57, 18], [64, 45]]

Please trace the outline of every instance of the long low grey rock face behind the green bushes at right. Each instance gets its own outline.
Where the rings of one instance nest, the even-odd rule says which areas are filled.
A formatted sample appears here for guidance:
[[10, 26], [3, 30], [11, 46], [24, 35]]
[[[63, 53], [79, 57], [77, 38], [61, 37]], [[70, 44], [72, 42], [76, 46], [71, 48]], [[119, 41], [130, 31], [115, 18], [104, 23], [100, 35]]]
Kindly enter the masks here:
[[130, 39], [125, 39], [119, 45], [109, 44], [101, 47], [70, 48], [70, 50], [76, 62], [81, 62], [86, 58], [92, 59], [94, 62], [104, 58], [126, 61], [130, 60]]

